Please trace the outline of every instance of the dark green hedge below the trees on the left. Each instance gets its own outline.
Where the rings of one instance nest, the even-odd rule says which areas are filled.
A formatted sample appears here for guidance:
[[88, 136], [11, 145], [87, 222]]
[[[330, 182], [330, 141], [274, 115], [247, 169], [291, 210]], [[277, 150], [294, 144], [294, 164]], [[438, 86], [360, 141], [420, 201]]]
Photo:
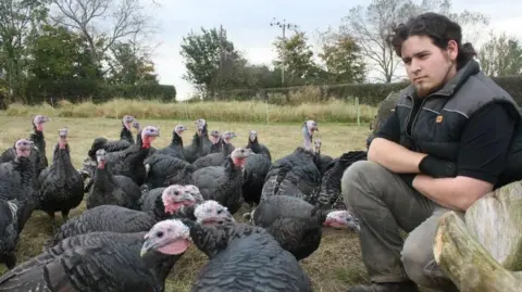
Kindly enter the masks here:
[[108, 85], [97, 79], [65, 81], [32, 79], [27, 84], [25, 96], [30, 104], [38, 104], [42, 101], [53, 103], [62, 99], [73, 103], [82, 102], [86, 99], [100, 103], [115, 97], [175, 102], [176, 89], [174, 86], [154, 84]]

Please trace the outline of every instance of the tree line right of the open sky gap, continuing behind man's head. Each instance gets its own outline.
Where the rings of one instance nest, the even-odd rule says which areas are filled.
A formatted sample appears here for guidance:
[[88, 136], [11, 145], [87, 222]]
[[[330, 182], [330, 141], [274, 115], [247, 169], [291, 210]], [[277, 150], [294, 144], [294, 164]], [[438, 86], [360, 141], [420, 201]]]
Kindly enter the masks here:
[[[321, 52], [311, 46], [310, 33], [286, 24], [286, 37], [275, 38], [276, 59], [272, 66], [249, 63], [227, 37], [223, 27], [201, 27], [183, 39], [184, 78], [202, 99], [224, 99], [229, 92], [304, 85], [389, 84], [403, 81], [400, 59], [388, 46], [393, 29], [409, 17], [433, 11], [457, 21], [463, 41], [484, 43], [476, 48], [484, 72], [490, 76], [522, 74], [520, 40], [492, 31], [484, 39], [490, 17], [483, 13], [451, 11], [450, 0], [372, 0], [348, 11], [338, 27], [316, 31]], [[281, 24], [279, 25], [285, 25]], [[496, 33], [496, 34], [494, 34]], [[370, 72], [377, 76], [369, 80]]]

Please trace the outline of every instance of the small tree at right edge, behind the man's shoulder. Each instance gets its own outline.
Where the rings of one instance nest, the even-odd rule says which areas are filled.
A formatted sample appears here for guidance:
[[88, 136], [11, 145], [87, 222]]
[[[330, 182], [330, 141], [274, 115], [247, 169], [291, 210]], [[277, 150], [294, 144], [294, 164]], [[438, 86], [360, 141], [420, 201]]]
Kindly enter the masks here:
[[481, 67], [486, 75], [506, 76], [522, 74], [522, 46], [506, 33], [492, 35], [478, 50]]

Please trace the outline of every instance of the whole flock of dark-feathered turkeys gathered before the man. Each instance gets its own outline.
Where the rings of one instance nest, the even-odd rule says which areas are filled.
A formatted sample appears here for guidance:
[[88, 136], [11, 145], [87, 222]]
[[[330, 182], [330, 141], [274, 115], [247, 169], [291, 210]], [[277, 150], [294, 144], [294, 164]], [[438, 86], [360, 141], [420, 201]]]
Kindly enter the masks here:
[[[314, 120], [302, 126], [303, 145], [273, 162], [256, 130], [234, 147], [234, 132], [209, 132], [201, 118], [190, 144], [177, 125], [172, 143], [154, 149], [159, 128], [125, 116], [120, 140], [96, 138], [82, 169], [71, 162], [67, 128], [48, 162], [49, 120], [34, 117], [30, 137], [1, 156], [0, 263], [9, 270], [0, 291], [164, 291], [194, 244], [209, 261], [191, 291], [307, 292], [299, 261], [319, 247], [322, 227], [359, 229], [341, 203], [340, 178], [366, 153], [321, 154]], [[87, 210], [69, 218], [84, 200]], [[244, 203], [247, 223], [233, 216]], [[20, 233], [35, 211], [49, 214], [54, 234], [41, 254], [17, 263]]]

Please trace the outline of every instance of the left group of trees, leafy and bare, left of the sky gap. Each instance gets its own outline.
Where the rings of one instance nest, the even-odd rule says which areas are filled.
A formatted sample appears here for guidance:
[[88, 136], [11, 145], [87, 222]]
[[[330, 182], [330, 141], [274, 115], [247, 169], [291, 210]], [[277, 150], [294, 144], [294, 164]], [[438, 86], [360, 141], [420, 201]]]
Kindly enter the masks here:
[[144, 11], [139, 0], [0, 1], [3, 105], [35, 96], [52, 102], [101, 86], [158, 85], [141, 45], [153, 33]]

